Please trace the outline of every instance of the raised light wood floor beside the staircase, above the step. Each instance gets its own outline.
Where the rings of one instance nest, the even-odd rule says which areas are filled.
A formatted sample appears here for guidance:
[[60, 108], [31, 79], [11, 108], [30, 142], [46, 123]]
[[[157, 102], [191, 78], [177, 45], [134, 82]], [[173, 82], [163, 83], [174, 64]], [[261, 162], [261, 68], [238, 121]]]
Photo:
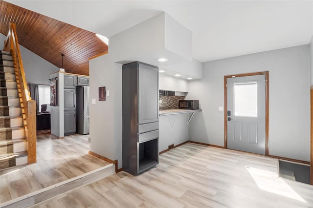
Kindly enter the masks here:
[[88, 154], [88, 137], [37, 136], [37, 163], [0, 171], [0, 203], [108, 165]]

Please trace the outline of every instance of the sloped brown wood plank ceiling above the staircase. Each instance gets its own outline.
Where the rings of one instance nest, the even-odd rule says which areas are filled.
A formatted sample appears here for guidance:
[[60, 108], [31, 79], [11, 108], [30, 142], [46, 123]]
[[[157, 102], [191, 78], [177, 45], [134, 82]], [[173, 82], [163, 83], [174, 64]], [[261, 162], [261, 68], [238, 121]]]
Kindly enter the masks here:
[[10, 22], [16, 23], [19, 43], [46, 61], [62, 68], [64, 54], [68, 73], [89, 75], [89, 58], [108, 51], [95, 33], [0, 0], [0, 32], [5, 36]]

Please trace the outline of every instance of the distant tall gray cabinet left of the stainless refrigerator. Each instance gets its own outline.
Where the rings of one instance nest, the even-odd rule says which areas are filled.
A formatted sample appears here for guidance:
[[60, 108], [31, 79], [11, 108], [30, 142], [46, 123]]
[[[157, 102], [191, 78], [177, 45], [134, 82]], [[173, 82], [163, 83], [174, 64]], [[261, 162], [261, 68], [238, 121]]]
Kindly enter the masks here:
[[76, 131], [76, 76], [64, 74], [64, 136]]

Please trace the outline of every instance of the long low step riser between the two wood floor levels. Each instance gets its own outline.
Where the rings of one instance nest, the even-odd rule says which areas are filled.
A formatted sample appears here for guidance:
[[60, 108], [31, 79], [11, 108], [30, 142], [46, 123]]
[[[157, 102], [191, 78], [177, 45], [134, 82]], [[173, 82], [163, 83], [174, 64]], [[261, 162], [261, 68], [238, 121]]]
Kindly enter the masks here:
[[63, 181], [58, 184], [23, 195], [16, 199], [12, 199], [10, 201], [0, 204], [0, 208], [22, 208], [36, 205], [60, 194], [64, 194], [67, 191], [71, 191], [81, 186], [89, 185], [95, 181], [101, 180], [114, 174], [114, 168], [112, 168], [112, 166], [113, 164], [103, 166], [83, 175], [68, 179], [67, 181]]

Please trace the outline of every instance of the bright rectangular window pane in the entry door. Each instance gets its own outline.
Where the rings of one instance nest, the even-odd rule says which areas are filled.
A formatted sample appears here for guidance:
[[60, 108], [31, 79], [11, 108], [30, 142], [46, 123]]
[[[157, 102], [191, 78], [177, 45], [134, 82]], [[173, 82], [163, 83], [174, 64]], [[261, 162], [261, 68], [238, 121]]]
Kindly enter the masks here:
[[257, 117], [257, 82], [234, 83], [234, 116]]

